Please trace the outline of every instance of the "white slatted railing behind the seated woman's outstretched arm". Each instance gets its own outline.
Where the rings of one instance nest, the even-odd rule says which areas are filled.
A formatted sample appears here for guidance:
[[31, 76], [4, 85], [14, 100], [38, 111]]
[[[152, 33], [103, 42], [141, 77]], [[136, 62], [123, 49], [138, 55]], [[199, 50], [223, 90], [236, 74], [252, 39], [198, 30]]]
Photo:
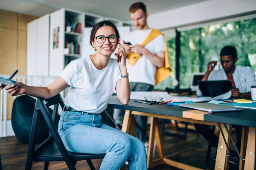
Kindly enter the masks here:
[[[6, 79], [9, 79], [11, 75], [0, 75], [0, 77], [4, 77]], [[52, 82], [55, 81], [58, 77], [43, 77], [43, 76], [15, 76], [13, 80], [18, 82], [23, 82], [26, 85], [31, 86], [48, 86]], [[6, 90], [0, 91], [0, 137], [6, 137], [9, 136], [8, 132], [12, 131], [12, 126], [10, 123], [8, 123], [7, 120], [7, 107], [8, 107], [8, 99], [7, 99], [7, 93]], [[62, 97], [64, 96], [64, 93], [62, 92]], [[17, 96], [14, 96], [14, 99], [16, 99]]]

